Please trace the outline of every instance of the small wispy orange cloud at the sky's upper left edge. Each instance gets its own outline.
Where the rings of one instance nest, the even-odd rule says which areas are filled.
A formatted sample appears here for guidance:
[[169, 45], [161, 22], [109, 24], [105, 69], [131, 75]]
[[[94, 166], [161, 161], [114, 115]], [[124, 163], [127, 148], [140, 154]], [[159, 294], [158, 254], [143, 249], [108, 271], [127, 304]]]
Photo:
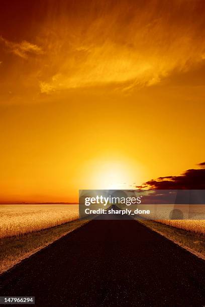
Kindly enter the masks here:
[[14, 53], [15, 55], [27, 59], [29, 54], [43, 54], [43, 50], [41, 47], [31, 44], [27, 41], [22, 41], [20, 43], [15, 43], [6, 40], [2, 36], [0, 37], [0, 42], [5, 45], [5, 47], [9, 50], [9, 52]]

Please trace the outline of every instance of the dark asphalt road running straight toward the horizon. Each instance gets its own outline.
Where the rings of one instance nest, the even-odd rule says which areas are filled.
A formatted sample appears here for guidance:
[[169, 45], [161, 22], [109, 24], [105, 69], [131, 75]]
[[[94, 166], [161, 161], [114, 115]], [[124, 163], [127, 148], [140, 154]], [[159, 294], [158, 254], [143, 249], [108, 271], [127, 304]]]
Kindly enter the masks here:
[[93, 220], [0, 277], [37, 306], [205, 306], [205, 261], [134, 220]]

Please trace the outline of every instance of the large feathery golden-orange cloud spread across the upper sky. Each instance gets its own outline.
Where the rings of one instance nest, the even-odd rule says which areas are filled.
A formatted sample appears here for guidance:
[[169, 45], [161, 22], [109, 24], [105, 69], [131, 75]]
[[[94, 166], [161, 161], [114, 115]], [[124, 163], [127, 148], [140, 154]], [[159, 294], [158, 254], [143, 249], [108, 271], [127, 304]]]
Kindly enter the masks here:
[[[105, 7], [85, 1], [82, 8], [60, 2], [61, 14], [55, 22], [47, 19], [40, 34], [49, 42], [52, 63], [41, 91], [107, 84], [131, 90], [155, 85], [173, 71], [188, 71], [204, 60], [201, 6], [185, 0], [164, 6], [157, 0], [119, 1]], [[56, 16], [56, 9], [50, 10]]]

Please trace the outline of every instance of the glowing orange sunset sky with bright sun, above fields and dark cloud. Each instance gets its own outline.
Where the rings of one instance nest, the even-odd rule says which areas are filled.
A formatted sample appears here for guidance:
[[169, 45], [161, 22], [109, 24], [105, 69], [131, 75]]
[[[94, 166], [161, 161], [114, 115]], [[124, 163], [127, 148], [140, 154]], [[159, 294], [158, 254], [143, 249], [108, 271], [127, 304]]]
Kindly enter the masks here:
[[0, 201], [204, 161], [204, 1], [1, 1]]

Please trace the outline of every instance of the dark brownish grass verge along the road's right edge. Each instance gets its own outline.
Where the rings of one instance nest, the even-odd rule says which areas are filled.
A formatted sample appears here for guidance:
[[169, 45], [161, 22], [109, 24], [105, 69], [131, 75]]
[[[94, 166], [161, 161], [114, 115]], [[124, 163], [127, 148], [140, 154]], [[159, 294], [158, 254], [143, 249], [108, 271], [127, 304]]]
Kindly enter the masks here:
[[167, 239], [187, 249], [194, 255], [205, 260], [205, 237], [204, 234], [179, 229], [152, 220], [138, 220], [148, 228], [158, 232]]

